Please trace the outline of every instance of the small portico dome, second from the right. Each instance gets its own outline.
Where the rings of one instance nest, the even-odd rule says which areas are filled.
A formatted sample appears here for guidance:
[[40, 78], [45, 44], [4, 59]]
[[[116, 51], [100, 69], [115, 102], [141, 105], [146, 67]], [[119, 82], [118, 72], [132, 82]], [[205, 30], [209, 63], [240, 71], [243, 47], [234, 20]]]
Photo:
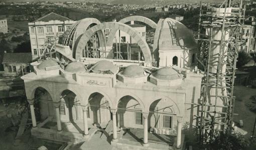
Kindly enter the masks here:
[[141, 66], [132, 64], [125, 67], [124, 70], [122, 71], [122, 74], [126, 77], [141, 77], [141, 76], [145, 76], [146, 72]]

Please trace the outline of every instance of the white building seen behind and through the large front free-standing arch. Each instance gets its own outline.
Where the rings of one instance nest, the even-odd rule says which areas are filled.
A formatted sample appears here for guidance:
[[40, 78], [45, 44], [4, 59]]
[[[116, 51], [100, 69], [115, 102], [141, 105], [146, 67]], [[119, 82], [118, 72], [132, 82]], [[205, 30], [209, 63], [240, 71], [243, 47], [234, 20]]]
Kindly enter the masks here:
[[[131, 27], [133, 27], [135, 30], [137, 30], [140, 35], [143, 37], [143, 39], [146, 40], [146, 26], [145, 25], [141, 25], [141, 24], [136, 24], [134, 23], [134, 21], [131, 21], [130, 24]], [[121, 43], [137, 43], [135, 39], [133, 39], [129, 34], [127, 34], [124, 31], [118, 30], [115, 33], [115, 38], [113, 40], [113, 42], [117, 42], [119, 43], [119, 31], [120, 31], [120, 42]]]

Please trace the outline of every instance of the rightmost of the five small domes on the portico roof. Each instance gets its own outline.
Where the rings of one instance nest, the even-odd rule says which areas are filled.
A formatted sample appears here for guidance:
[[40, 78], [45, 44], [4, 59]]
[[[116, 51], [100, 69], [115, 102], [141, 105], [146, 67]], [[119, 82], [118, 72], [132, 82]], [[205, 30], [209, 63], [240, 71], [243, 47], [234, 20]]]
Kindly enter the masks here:
[[168, 66], [158, 69], [153, 73], [153, 76], [164, 80], [173, 80], [181, 78], [181, 76], [179, 76], [178, 72], [175, 69]]

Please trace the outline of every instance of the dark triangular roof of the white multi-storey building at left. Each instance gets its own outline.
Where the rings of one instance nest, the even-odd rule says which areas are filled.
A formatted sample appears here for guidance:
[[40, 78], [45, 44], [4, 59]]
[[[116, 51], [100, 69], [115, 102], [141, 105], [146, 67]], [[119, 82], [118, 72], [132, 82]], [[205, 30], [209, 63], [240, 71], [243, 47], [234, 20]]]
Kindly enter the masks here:
[[72, 20], [66, 16], [62, 16], [60, 14], [57, 14], [57, 13], [54, 13], [54, 12], [51, 12], [51, 13], [48, 13], [38, 19], [35, 20], [36, 21], [44, 21], [44, 22], [48, 22], [50, 20], [60, 20], [60, 21], [66, 21], [66, 20]]

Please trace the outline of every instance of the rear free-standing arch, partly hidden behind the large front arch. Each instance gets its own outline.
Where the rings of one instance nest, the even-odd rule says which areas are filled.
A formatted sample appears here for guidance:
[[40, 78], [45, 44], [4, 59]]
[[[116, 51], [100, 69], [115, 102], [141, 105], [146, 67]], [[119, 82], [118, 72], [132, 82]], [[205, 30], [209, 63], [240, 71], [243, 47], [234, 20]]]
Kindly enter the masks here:
[[[125, 18], [120, 19], [118, 22], [126, 23], [126, 22], [129, 22], [129, 21], [140, 21], [140, 22], [144, 22], [144, 23], [148, 24], [152, 28], [157, 28], [157, 23], [156, 22], [154, 22], [150, 18], [147, 18], [145, 16], [140, 16], [140, 15], [127, 16]], [[113, 28], [109, 32], [108, 40], [107, 40], [107, 46], [112, 46], [113, 45], [114, 36], [115, 36], [115, 33], [116, 33], [117, 30], [118, 29]]]

